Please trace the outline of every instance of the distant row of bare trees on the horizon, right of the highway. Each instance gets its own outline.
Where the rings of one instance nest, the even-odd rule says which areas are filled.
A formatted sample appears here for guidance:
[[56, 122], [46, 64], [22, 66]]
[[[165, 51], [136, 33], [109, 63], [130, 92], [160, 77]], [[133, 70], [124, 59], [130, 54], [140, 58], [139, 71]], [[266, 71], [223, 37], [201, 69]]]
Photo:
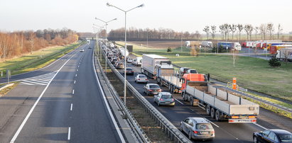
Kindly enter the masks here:
[[[275, 30], [276, 28], [276, 30]], [[252, 36], [254, 39], [258, 39], [260, 36], [261, 39], [279, 39], [280, 35], [283, 31], [281, 24], [274, 25], [273, 23], [263, 23], [259, 26], [251, 25], [251, 24], [228, 24], [224, 23], [222, 25], [206, 25], [205, 28], [202, 29], [203, 33], [206, 34], [207, 40], [211, 36], [212, 39], [215, 39], [217, 33], [222, 35], [222, 40], [234, 40], [234, 35], [239, 35], [239, 40], [242, 40], [242, 35], [245, 33], [247, 38], [246, 40], [252, 40]], [[105, 33], [101, 34], [102, 36]], [[171, 40], [200, 40], [202, 38], [202, 34], [196, 30], [195, 33], [186, 32], [178, 32], [172, 30], [170, 28], [158, 28], [158, 29], [149, 29], [149, 28], [128, 28], [126, 32], [127, 38], [130, 39], [171, 39]], [[269, 37], [268, 37], [269, 36]], [[115, 30], [111, 30], [107, 35], [108, 38], [124, 38], [124, 28], [119, 28]]]

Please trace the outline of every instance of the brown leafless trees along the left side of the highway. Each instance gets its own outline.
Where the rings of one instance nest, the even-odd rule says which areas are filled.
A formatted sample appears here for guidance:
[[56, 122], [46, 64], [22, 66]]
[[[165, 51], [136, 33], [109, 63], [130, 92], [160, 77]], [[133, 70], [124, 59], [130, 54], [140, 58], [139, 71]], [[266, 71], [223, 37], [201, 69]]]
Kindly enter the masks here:
[[17, 32], [0, 31], [0, 59], [18, 57], [26, 53], [55, 45], [68, 45], [78, 40], [75, 31], [62, 30], [26, 30]]

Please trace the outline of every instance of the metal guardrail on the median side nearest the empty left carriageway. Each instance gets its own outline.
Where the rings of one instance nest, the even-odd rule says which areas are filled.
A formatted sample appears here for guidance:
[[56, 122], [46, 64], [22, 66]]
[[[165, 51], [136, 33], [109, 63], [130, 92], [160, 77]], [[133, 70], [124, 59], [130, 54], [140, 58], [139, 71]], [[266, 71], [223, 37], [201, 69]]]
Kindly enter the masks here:
[[[99, 69], [102, 69], [99, 59], [95, 58], [95, 61], [98, 62]], [[112, 93], [112, 96], [114, 97], [114, 101], [116, 101], [119, 108], [122, 109], [123, 111], [122, 113], [126, 115], [129, 126], [131, 126], [131, 129], [134, 132], [135, 137], [139, 140], [138, 142], [150, 142], [150, 139], [147, 137], [144, 130], [140, 127], [138, 122], [135, 120], [134, 115], [131, 114], [131, 112], [126, 107], [124, 102], [122, 102], [121, 98], [119, 98], [117, 91], [114, 90], [114, 87], [112, 86], [109, 79], [107, 78], [107, 75], [105, 75], [103, 71], [101, 73], [102, 73], [102, 77], [105, 83], [107, 84], [107, 86], [109, 86], [109, 91]]]

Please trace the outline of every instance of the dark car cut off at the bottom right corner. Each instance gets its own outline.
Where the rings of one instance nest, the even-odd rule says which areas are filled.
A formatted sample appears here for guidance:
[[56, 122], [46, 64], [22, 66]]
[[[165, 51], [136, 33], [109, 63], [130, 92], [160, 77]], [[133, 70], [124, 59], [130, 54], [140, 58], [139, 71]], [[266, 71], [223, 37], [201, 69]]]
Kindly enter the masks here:
[[286, 130], [265, 130], [254, 132], [254, 142], [292, 142], [292, 133]]

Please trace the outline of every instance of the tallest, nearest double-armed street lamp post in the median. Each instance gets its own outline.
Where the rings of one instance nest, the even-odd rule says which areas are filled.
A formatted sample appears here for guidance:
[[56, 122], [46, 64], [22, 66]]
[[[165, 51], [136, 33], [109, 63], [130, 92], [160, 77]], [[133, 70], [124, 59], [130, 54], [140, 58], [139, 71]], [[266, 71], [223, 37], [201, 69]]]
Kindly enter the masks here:
[[123, 9], [121, 9], [121, 8], [118, 8], [117, 6], [114, 6], [114, 5], [112, 5], [112, 4], [109, 4], [109, 3], [107, 3], [107, 6], [112, 6], [112, 7], [114, 7], [114, 8], [117, 8], [117, 9], [119, 9], [120, 11], [123, 11], [123, 12], [125, 13], [125, 47], [124, 47], [124, 62], [125, 62], [125, 64], [124, 64], [124, 104], [126, 104], [126, 13], [127, 13], [127, 12], [129, 12], [129, 11], [131, 11], [131, 10], [133, 10], [133, 9], [135, 9], [135, 8], [143, 7], [143, 6], [144, 6], [144, 4], [141, 4], [141, 5], [139, 5], [139, 6], [136, 6], [136, 7], [134, 7], [134, 8], [131, 8], [131, 9], [129, 9], [128, 11], [124, 11]]

